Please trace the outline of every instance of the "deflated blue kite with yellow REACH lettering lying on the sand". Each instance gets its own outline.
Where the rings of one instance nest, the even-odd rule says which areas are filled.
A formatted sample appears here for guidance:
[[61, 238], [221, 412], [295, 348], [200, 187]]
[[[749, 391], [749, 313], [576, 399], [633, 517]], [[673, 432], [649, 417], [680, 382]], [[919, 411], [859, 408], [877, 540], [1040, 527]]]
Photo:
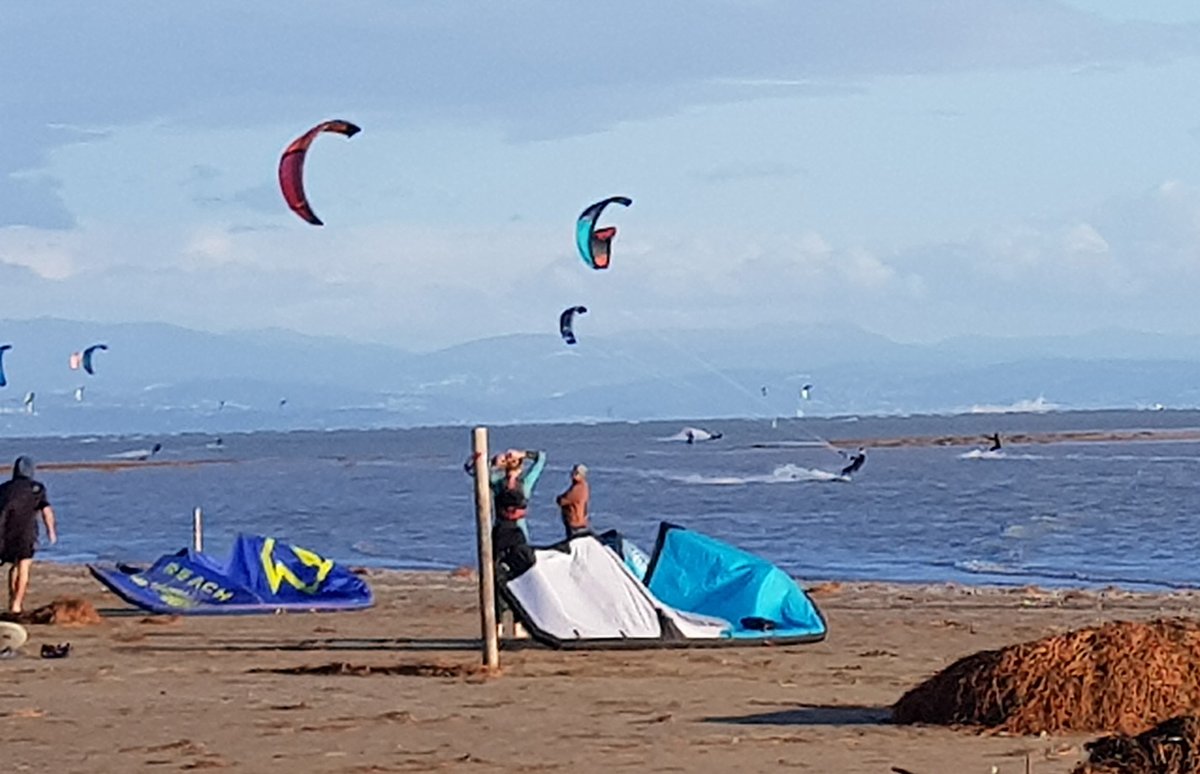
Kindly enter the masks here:
[[198, 551], [161, 557], [149, 569], [92, 564], [91, 574], [143, 610], [184, 616], [361, 610], [366, 582], [332, 560], [274, 538], [238, 535], [224, 564]]

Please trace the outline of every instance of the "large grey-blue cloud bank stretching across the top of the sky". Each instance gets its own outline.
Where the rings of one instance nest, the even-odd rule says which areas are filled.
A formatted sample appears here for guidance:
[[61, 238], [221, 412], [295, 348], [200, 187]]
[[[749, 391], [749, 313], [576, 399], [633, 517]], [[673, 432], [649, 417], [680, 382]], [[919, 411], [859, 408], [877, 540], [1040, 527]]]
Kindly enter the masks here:
[[881, 76], [1200, 54], [1195, 24], [1111, 22], [1052, 0], [614, 0], [595, 17], [553, 0], [8, 11], [0, 224], [48, 228], [73, 223], [56, 188], [12, 173], [41, 168], [60, 144], [148, 121], [304, 126], [353, 109], [400, 126], [497, 124], [532, 142], [764, 92], [852, 91]]

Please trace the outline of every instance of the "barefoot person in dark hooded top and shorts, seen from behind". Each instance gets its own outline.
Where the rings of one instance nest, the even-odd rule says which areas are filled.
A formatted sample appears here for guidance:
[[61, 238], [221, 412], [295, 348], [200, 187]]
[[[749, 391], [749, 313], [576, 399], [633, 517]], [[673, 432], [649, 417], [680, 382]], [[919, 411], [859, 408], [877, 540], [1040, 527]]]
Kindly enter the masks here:
[[34, 480], [34, 461], [17, 457], [12, 480], [0, 484], [0, 564], [8, 568], [8, 612], [24, 611], [29, 571], [37, 547], [37, 517], [46, 524], [50, 544], [59, 540], [54, 527], [54, 509], [46, 499], [46, 486]]

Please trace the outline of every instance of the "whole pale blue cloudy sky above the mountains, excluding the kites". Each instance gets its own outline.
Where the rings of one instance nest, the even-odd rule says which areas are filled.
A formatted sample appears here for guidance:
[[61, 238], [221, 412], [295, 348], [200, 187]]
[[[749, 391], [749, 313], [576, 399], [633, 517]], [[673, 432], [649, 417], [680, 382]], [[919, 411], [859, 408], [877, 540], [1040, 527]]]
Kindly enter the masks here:
[[1194, 0], [42, 0], [0, 72], [2, 318], [1200, 334]]

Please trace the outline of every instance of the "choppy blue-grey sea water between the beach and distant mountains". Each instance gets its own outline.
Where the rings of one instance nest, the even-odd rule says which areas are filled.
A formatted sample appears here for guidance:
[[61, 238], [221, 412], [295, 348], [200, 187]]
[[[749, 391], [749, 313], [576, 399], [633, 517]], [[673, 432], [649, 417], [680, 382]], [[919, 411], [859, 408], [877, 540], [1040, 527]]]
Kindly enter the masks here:
[[[667, 440], [684, 425], [719, 440]], [[593, 522], [649, 550], [674, 522], [761, 553], [808, 580], [1200, 587], [1200, 443], [870, 449], [851, 482], [823, 440], [992, 431], [1200, 427], [1195, 412], [721, 420], [492, 428], [492, 449], [544, 449], [535, 542], [559, 539], [554, 496], [590, 468]], [[5, 439], [10, 458], [217, 461], [119, 472], [46, 470], [60, 542], [44, 559], [144, 562], [238, 532], [276, 535], [349, 564], [474, 564], [467, 427]], [[980, 440], [982, 444], [982, 440]]]

